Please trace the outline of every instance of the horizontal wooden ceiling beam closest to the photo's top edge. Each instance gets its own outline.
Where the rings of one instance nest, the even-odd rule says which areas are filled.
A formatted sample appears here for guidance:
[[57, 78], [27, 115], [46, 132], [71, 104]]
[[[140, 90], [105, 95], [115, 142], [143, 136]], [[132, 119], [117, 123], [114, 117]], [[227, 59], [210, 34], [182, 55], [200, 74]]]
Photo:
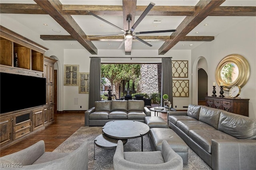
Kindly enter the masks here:
[[[146, 6], [136, 6], [136, 16], [140, 16]], [[123, 16], [123, 7], [115, 5], [62, 5], [62, 10], [70, 15], [89, 15], [87, 10], [103, 16]], [[191, 16], [194, 6], [154, 6], [148, 16]], [[48, 14], [38, 4], [0, 5], [1, 14]], [[209, 16], [256, 16], [256, 6], [219, 6]]]

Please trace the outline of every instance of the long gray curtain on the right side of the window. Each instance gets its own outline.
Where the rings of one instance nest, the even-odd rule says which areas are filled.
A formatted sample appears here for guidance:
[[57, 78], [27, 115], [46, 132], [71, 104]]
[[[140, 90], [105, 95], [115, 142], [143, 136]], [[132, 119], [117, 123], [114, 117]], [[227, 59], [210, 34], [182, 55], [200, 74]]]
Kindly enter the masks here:
[[172, 97], [172, 59], [162, 58], [162, 90], [161, 90], [161, 105], [164, 105], [164, 99], [162, 96], [168, 95], [168, 100], [171, 102], [173, 107]]

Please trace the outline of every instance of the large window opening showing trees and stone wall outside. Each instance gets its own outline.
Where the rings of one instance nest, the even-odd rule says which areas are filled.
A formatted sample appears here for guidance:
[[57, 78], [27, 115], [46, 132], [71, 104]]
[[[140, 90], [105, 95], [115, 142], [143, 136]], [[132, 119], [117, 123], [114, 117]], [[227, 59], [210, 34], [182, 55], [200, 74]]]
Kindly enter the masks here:
[[144, 96], [157, 103], [161, 94], [161, 63], [156, 64], [101, 64], [101, 98], [108, 100], [111, 90], [112, 99], [123, 100]]

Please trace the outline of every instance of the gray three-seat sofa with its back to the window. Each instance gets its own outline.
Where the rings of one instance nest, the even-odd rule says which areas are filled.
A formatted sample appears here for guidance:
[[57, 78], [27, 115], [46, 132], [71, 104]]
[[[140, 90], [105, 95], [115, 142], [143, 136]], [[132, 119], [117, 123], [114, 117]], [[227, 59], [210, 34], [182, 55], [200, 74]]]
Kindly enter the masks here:
[[85, 126], [104, 126], [112, 120], [135, 120], [144, 122], [151, 112], [143, 100], [96, 101], [94, 107], [85, 111]]

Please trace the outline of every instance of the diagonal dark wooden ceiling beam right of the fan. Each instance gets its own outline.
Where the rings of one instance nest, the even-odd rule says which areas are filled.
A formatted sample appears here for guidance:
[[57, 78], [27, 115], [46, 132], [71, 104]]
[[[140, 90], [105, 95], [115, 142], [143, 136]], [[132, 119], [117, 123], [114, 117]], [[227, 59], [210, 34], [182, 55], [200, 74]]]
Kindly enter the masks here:
[[158, 55], [164, 55], [167, 53], [180, 41], [180, 39], [182, 39], [182, 37], [185, 37], [224, 1], [225, 0], [200, 0], [195, 6], [196, 11], [194, 14], [192, 16], [187, 16], [180, 23], [180, 25], [176, 28], [177, 31], [171, 34], [170, 40], [165, 41], [164, 44], [158, 49]]

